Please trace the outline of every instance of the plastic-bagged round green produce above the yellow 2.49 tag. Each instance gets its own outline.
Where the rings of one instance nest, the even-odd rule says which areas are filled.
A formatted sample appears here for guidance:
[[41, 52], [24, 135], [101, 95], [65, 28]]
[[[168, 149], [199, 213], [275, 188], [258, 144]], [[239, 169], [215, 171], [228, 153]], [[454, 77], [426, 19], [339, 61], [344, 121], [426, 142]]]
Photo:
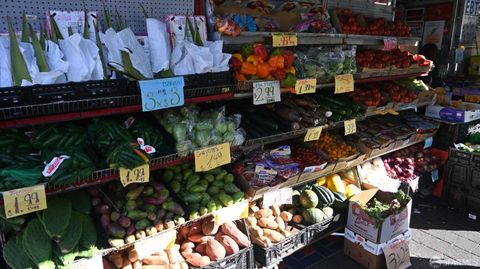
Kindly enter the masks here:
[[187, 105], [153, 115], [173, 136], [176, 150], [181, 155], [209, 145], [229, 142], [231, 146], [236, 146], [244, 142], [245, 135], [237, 130], [240, 117], [226, 117], [224, 107], [201, 110], [198, 106]]

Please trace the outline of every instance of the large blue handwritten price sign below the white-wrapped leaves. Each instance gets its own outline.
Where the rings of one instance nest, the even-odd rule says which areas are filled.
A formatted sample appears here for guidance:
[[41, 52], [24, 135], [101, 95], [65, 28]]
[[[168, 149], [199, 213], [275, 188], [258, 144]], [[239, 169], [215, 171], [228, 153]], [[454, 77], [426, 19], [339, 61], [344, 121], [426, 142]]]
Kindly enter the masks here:
[[140, 80], [138, 84], [143, 112], [183, 106], [185, 103], [183, 77]]

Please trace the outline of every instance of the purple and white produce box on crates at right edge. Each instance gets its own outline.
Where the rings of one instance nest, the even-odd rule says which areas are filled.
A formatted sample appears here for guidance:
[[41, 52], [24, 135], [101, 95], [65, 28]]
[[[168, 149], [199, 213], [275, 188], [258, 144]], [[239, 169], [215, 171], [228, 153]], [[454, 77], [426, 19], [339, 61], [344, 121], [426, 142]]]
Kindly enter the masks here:
[[431, 105], [427, 106], [425, 116], [450, 122], [470, 122], [480, 119], [480, 104], [467, 102], [464, 104], [475, 110], [458, 110], [454, 107]]

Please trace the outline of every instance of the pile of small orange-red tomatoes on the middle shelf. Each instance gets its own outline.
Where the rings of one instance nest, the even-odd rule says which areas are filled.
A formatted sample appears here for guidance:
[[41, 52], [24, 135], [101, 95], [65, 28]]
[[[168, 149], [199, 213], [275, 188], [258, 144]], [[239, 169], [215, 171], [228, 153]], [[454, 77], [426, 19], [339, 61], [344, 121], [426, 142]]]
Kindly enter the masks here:
[[331, 132], [322, 132], [320, 138], [313, 143], [313, 146], [325, 152], [328, 158], [333, 161], [357, 154], [354, 146], [347, 144], [338, 135], [334, 135]]

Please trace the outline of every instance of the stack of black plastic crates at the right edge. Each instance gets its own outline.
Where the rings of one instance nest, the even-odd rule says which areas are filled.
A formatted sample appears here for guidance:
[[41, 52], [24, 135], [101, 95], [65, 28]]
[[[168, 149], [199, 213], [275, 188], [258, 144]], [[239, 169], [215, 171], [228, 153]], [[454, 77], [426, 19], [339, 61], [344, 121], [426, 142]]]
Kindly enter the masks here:
[[446, 195], [450, 205], [480, 213], [480, 153], [450, 149]]

